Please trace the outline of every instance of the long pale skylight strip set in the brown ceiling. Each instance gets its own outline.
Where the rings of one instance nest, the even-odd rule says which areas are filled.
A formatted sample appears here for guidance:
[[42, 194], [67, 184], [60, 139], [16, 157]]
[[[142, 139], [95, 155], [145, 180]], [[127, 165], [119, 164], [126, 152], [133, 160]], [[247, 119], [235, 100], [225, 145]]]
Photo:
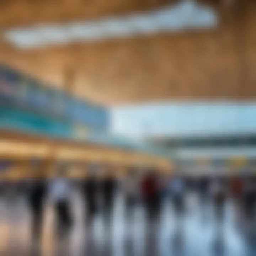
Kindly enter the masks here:
[[212, 7], [183, 0], [164, 9], [92, 22], [17, 28], [4, 32], [4, 38], [17, 47], [33, 48], [50, 44], [133, 37], [164, 31], [214, 28], [218, 24]]

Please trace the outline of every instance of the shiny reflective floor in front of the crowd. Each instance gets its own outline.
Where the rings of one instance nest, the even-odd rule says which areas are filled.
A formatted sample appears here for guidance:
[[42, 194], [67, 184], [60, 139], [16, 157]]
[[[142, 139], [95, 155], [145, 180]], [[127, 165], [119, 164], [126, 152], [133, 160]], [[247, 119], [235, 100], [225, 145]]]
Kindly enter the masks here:
[[24, 197], [0, 199], [0, 255], [61, 256], [255, 256], [256, 223], [243, 217], [230, 199], [223, 222], [214, 217], [212, 202], [204, 207], [196, 194], [186, 197], [186, 212], [177, 217], [171, 201], [162, 204], [157, 218], [148, 219], [137, 205], [128, 215], [122, 193], [113, 215], [84, 217], [81, 194], [74, 192], [74, 226], [66, 233], [55, 229], [55, 215], [47, 202], [40, 241], [31, 235], [31, 216]]

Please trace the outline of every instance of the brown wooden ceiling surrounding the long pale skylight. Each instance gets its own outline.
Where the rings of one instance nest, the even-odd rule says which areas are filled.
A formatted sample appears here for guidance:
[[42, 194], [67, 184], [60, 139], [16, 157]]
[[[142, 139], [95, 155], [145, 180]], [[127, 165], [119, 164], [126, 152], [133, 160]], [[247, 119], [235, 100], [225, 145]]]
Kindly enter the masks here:
[[[6, 0], [0, 27], [93, 19], [154, 9], [167, 0]], [[159, 33], [21, 50], [0, 42], [0, 62], [107, 105], [176, 99], [256, 98], [255, 1], [204, 1], [220, 15], [215, 30]], [[241, 4], [241, 1], [239, 1]], [[239, 7], [239, 8], [238, 8]], [[23, 11], [22, 11], [23, 10]]]

